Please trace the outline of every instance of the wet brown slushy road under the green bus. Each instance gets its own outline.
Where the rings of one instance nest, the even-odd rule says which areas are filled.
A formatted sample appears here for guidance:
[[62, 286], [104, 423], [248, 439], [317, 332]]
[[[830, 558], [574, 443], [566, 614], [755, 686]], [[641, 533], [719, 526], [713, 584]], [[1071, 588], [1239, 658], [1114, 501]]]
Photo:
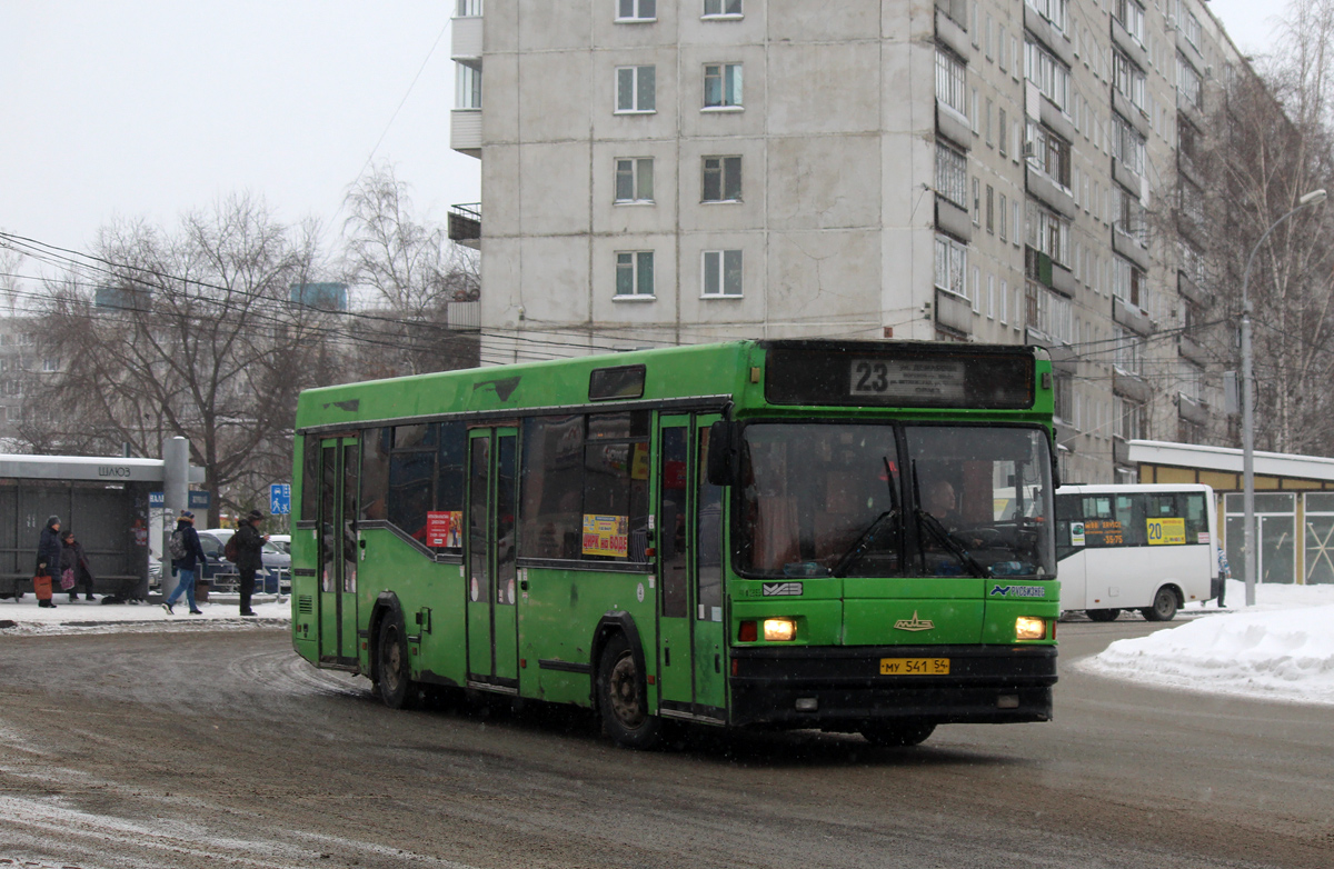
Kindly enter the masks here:
[[[1062, 656], [1155, 629], [1066, 624]], [[1327, 706], [1057, 690], [900, 752], [631, 753], [576, 712], [391, 712], [275, 628], [0, 637], [0, 866], [1329, 865]]]

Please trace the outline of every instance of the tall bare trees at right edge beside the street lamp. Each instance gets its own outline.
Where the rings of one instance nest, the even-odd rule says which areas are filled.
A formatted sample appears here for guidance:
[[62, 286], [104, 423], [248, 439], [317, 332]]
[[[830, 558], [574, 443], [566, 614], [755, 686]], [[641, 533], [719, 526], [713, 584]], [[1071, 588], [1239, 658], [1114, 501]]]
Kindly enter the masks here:
[[[1223, 303], [1211, 317], [1227, 324], [1207, 343], [1227, 367], [1239, 367], [1230, 327], [1255, 251], [1246, 296], [1254, 311], [1257, 446], [1334, 454], [1326, 423], [1334, 412], [1334, 221], [1327, 207], [1305, 209], [1265, 239], [1302, 195], [1334, 184], [1334, 0], [1291, 4], [1285, 27], [1281, 52], [1263, 69], [1241, 68], [1223, 83], [1209, 145], [1193, 161], [1205, 208], [1186, 201], [1187, 183], [1179, 204], [1183, 215], [1203, 216], [1194, 235], [1205, 240], [1210, 284]], [[1238, 436], [1235, 427], [1229, 434]]]

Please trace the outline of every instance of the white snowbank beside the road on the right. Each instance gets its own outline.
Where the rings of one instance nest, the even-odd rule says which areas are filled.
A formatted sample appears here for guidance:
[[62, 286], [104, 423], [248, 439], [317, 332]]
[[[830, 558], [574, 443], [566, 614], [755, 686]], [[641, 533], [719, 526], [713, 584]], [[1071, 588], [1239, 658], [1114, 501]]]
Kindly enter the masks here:
[[[1186, 690], [1334, 705], [1334, 585], [1227, 584], [1229, 609], [1118, 640], [1077, 668]], [[1189, 617], [1213, 604], [1193, 604]]]

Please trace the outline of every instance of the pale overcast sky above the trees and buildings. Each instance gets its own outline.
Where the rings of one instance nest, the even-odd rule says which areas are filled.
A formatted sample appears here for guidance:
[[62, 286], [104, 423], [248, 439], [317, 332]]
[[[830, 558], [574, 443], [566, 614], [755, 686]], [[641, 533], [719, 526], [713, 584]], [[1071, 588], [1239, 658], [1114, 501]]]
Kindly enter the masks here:
[[[1242, 51], [1262, 52], [1282, 4], [1211, 8]], [[116, 216], [171, 224], [249, 191], [284, 221], [321, 220], [331, 240], [372, 149], [419, 216], [443, 221], [480, 199], [479, 163], [450, 149], [452, 9], [0, 0], [0, 228], [85, 248]]]

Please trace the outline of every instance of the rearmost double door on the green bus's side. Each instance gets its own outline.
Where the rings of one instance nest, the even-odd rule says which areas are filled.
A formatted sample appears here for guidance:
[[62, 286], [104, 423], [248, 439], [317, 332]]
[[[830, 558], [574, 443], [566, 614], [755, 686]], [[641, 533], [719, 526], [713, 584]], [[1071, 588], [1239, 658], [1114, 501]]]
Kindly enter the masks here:
[[360, 492], [360, 450], [356, 437], [320, 441], [320, 661], [355, 665], [356, 498]]

